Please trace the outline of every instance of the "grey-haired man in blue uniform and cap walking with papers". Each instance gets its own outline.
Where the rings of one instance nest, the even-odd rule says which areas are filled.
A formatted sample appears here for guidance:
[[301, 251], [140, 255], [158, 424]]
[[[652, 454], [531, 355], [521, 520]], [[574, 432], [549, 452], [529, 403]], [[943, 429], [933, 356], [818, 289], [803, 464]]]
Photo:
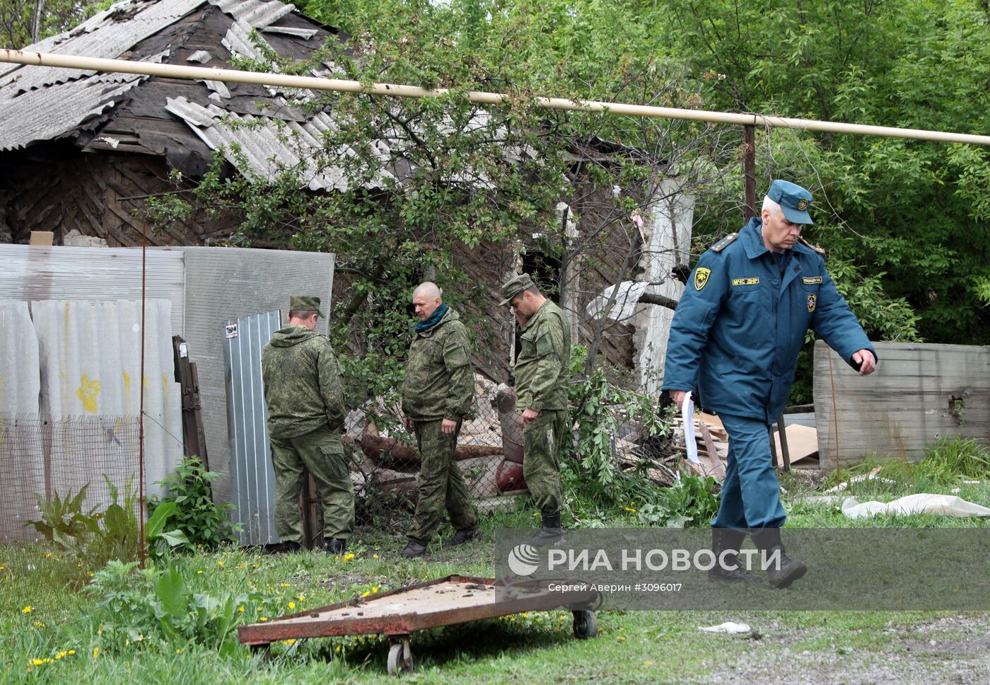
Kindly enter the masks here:
[[663, 390], [678, 408], [699, 392], [729, 433], [722, 505], [712, 521], [712, 546], [725, 564], [713, 580], [754, 581], [736, 564], [748, 531], [780, 564], [767, 572], [773, 587], [788, 587], [807, 571], [783, 552], [784, 508], [771, 465], [769, 427], [791, 391], [798, 351], [811, 328], [866, 376], [876, 352], [825, 270], [824, 252], [801, 239], [811, 224], [808, 190], [775, 180], [759, 218], [701, 256], [670, 325]]

